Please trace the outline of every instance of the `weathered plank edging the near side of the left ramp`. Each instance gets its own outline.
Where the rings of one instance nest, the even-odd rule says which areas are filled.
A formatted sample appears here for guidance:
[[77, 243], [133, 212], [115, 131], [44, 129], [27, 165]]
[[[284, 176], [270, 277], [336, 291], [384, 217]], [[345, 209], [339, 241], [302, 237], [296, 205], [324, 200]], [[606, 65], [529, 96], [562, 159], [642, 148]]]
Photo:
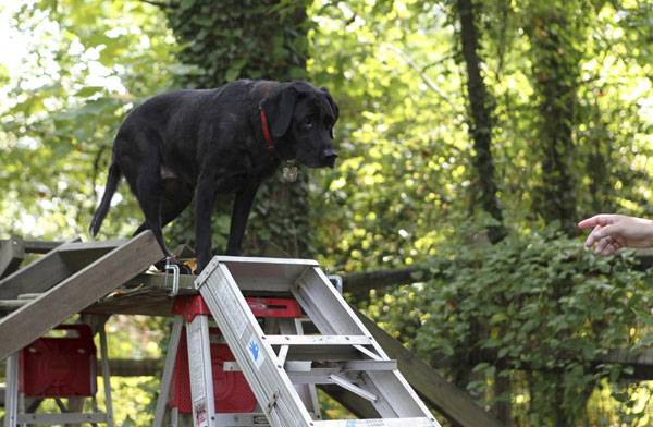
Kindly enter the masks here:
[[163, 258], [145, 231], [0, 320], [0, 361]]

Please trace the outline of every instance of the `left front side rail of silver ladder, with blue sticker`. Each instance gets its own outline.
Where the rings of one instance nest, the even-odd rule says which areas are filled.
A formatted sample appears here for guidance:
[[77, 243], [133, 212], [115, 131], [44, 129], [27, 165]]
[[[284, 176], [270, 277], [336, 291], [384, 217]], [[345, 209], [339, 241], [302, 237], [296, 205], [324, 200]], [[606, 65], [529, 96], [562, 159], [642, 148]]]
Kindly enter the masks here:
[[[312, 422], [310, 414], [299, 404], [299, 396], [283, 366], [278, 366], [276, 355], [266, 342], [229, 268], [213, 258], [196, 280], [196, 286], [270, 423], [275, 427], [308, 426]], [[255, 349], [259, 350], [257, 358]]]

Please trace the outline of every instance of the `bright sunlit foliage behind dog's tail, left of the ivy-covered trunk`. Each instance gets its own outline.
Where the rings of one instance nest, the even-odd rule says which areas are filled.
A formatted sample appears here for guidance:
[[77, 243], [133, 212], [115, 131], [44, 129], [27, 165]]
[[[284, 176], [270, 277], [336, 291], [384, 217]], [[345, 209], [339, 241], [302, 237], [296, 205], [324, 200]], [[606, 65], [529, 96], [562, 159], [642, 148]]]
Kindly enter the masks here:
[[[46, 1], [15, 15], [32, 53], [2, 91], [0, 232], [85, 233], [121, 119], [188, 71], [172, 63], [175, 48], [151, 11], [138, 1]], [[131, 196], [111, 216], [125, 211], [137, 211]], [[128, 235], [133, 218], [107, 221], [104, 235]]]

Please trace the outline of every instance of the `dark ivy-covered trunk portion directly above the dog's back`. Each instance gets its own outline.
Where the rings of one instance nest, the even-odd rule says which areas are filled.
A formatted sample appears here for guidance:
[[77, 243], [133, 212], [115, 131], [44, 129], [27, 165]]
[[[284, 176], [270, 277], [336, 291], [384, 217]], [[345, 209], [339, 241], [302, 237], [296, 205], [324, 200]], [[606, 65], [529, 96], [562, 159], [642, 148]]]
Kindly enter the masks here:
[[168, 23], [197, 75], [181, 87], [212, 88], [237, 78], [306, 78], [306, 12], [301, 1], [182, 0], [167, 9]]

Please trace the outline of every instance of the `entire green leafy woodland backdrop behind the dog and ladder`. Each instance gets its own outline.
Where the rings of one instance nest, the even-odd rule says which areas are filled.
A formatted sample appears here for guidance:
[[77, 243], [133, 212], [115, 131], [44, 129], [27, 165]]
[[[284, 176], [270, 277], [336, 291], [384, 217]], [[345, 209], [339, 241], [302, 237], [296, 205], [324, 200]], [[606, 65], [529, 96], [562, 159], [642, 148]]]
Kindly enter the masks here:
[[[478, 203], [483, 178], [472, 168], [457, 2], [167, 4], [16, 8], [10, 26], [32, 41], [23, 64], [0, 61], [0, 233], [84, 234], [113, 135], [145, 97], [241, 77], [307, 77], [341, 107], [338, 167], [263, 190], [249, 252], [289, 235], [285, 248], [319, 254], [332, 271], [431, 263], [428, 283], [358, 303], [483, 403], [509, 400], [516, 425], [646, 425], [638, 407], [650, 390], [590, 361], [607, 346], [649, 345], [649, 276], [632, 271], [629, 254], [594, 258], [553, 219], [567, 206], [568, 223], [596, 211], [653, 215], [650, 2], [472, 2], [494, 112], [483, 131], [513, 230], [495, 247], [482, 231], [496, 222]], [[287, 207], [307, 194], [308, 206]], [[121, 196], [103, 237], [139, 223], [126, 186]], [[220, 209], [218, 252], [229, 227]], [[192, 242], [192, 216], [167, 231], [173, 244]], [[500, 358], [467, 358], [479, 352]], [[497, 378], [509, 379], [510, 395]], [[147, 424], [135, 413], [150, 408], [134, 411], [125, 417]]]

